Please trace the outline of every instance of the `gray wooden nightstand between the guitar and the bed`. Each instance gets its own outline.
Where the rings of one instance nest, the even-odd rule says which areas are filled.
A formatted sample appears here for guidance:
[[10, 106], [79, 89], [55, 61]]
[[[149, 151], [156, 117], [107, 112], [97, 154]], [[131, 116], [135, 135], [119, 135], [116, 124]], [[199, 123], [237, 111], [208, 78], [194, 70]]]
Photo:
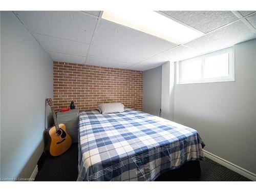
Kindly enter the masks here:
[[72, 138], [72, 143], [78, 142], [78, 117], [79, 109], [70, 110], [67, 112], [57, 112], [58, 123], [66, 125], [66, 131]]

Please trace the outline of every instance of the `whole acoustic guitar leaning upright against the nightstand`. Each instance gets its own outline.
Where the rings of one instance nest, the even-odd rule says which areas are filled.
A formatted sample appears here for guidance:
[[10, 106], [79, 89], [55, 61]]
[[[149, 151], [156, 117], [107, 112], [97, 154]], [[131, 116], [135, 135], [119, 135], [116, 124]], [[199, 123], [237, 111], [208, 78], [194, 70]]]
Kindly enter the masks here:
[[46, 100], [51, 107], [55, 124], [55, 126], [52, 126], [44, 132], [45, 142], [47, 143], [46, 150], [49, 151], [52, 156], [59, 156], [69, 149], [72, 139], [66, 132], [65, 124], [58, 124], [52, 99], [48, 98]]

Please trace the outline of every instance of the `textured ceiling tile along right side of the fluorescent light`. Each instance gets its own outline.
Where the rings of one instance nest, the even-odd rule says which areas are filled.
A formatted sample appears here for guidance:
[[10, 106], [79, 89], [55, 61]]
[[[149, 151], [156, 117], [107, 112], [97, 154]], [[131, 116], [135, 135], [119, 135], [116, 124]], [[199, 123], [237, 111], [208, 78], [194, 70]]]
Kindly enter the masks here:
[[231, 11], [161, 11], [181, 22], [207, 33], [229, 24], [238, 17]]

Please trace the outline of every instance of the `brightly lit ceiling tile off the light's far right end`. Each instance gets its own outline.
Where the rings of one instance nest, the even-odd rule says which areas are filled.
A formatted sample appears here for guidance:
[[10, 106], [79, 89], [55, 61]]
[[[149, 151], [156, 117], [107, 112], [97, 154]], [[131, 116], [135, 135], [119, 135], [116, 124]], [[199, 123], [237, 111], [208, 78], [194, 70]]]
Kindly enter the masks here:
[[195, 51], [194, 49], [190, 49], [184, 46], [178, 46], [174, 49], [161, 53], [156, 57], [175, 62], [195, 57], [197, 55], [200, 55], [199, 51]]

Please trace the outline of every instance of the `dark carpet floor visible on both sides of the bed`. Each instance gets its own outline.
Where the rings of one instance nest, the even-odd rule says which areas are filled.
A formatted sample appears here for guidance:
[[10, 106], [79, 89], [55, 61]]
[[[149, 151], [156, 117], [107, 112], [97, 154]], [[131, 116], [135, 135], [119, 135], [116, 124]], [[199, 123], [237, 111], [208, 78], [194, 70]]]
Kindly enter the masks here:
[[[71, 145], [69, 150], [58, 156], [47, 159], [38, 171], [35, 181], [76, 181], [78, 170], [78, 144]], [[161, 181], [161, 180], [160, 180]], [[184, 180], [183, 180], [184, 181]], [[249, 179], [205, 158], [201, 161], [201, 178], [187, 181], [250, 181]]]

